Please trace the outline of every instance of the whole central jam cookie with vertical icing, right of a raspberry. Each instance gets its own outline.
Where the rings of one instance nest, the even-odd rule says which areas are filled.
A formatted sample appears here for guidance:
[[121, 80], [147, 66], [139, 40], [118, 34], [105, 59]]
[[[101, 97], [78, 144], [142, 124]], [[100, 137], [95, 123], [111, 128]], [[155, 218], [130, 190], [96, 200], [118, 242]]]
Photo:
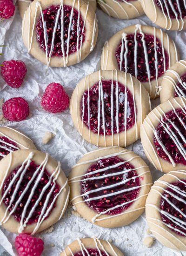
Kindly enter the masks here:
[[140, 138], [150, 99], [131, 74], [100, 70], [76, 86], [70, 111], [75, 127], [86, 141], [99, 147], [126, 147]]

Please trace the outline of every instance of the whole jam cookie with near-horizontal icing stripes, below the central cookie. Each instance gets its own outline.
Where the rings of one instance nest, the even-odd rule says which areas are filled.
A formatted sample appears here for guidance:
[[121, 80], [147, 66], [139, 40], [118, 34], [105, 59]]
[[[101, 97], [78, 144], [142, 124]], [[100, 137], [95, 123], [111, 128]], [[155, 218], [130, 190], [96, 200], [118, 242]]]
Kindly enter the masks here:
[[74, 209], [98, 226], [116, 228], [135, 221], [145, 209], [152, 177], [140, 156], [110, 147], [84, 155], [69, 177]]

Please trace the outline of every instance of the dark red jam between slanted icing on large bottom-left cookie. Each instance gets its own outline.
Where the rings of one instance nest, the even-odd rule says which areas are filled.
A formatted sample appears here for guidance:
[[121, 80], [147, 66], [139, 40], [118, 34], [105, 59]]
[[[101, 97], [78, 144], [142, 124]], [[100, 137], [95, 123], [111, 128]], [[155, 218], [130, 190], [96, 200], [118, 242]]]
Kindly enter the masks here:
[[[33, 177], [34, 172], [37, 170], [38, 167], [39, 167], [39, 166], [36, 165], [34, 162], [31, 162], [31, 163], [30, 163], [30, 166], [29, 166], [29, 168], [27, 169], [27, 171], [26, 171], [26, 173], [25, 173], [25, 175], [24, 175], [24, 177], [23, 177], [23, 180], [22, 180], [22, 182], [21, 182], [21, 184], [20, 184], [20, 187], [19, 187], [19, 189], [18, 189], [18, 192], [16, 193], [15, 199], [13, 200], [13, 203], [12, 203], [11, 207], [9, 208], [9, 211], [10, 211], [10, 212], [13, 210], [13, 207], [14, 207], [15, 203], [18, 201], [20, 195], [24, 192], [24, 189], [27, 187], [28, 182], [31, 180], [31, 178]], [[14, 175], [16, 175], [16, 173], [18, 172], [18, 169], [19, 169], [19, 168], [20, 168], [20, 166], [19, 166], [18, 168], [14, 169], [14, 170], [11, 172], [11, 174], [9, 175], [9, 177], [7, 178], [7, 180], [5, 181], [5, 183], [4, 183], [4, 185], [3, 185], [3, 189], [2, 189], [2, 195], [4, 195], [5, 191], [6, 191], [7, 188], [8, 188], [8, 185], [9, 185], [10, 182], [12, 181]], [[40, 171], [39, 171], [39, 173], [40, 173]], [[22, 215], [22, 213], [23, 213], [23, 209], [24, 209], [24, 207], [25, 207], [25, 205], [26, 205], [26, 203], [27, 203], [27, 200], [28, 200], [29, 195], [31, 194], [31, 190], [33, 189], [33, 185], [34, 185], [34, 183], [35, 183], [35, 181], [36, 181], [38, 175], [39, 175], [39, 174], [36, 175], [36, 178], [33, 180], [33, 182], [31, 183], [31, 185], [29, 186], [29, 189], [27, 189], [26, 194], [23, 196], [23, 198], [22, 198], [22, 200], [20, 201], [20, 203], [19, 203], [17, 209], [16, 209], [16, 210], [14, 211], [14, 213], [13, 213], [13, 216], [14, 216], [15, 220], [18, 221], [18, 222], [20, 222], [20, 220], [21, 220], [21, 215]], [[3, 200], [4, 204], [5, 204], [7, 207], [9, 206], [9, 202], [10, 202], [10, 200], [11, 200], [11, 198], [12, 198], [13, 191], [14, 191], [14, 189], [15, 189], [15, 187], [16, 187], [16, 184], [18, 183], [19, 179], [20, 179], [20, 175], [19, 175], [19, 177], [15, 180], [15, 182], [13, 183], [13, 186], [12, 186], [11, 189], [8, 191], [8, 193], [7, 193], [6, 197], [5, 197], [5, 199]], [[48, 173], [48, 172], [46, 171], [46, 169], [45, 169], [45, 170], [44, 170], [44, 173], [43, 173], [43, 175], [42, 175], [42, 177], [41, 177], [41, 179], [40, 179], [40, 182], [39, 182], [38, 186], [37, 186], [36, 189], [35, 189], [35, 192], [34, 192], [34, 195], [33, 195], [33, 197], [32, 197], [32, 200], [31, 200], [30, 204], [28, 205], [27, 212], [26, 212], [26, 215], [25, 215], [26, 218], [27, 218], [27, 216], [29, 215], [31, 209], [33, 208], [35, 202], [36, 202], [37, 199], [39, 198], [43, 187], [46, 185], [46, 183], [49, 181], [49, 179], [50, 179], [50, 175], [49, 175], [49, 173]], [[42, 198], [41, 198], [41, 200], [40, 200], [38, 206], [36, 207], [35, 211], [33, 212], [32, 217], [31, 217], [31, 218], [29, 219], [29, 221], [27, 222], [28, 224], [32, 224], [32, 223], [34, 223], [34, 222], [38, 222], [38, 219], [39, 219], [39, 217], [40, 217], [40, 214], [41, 214], [43, 205], [44, 205], [44, 203], [46, 202], [46, 196], [48, 195], [48, 193], [50, 192], [50, 190], [51, 190], [52, 187], [53, 187], [53, 182], [51, 182], [51, 184], [50, 184], [50, 185], [48, 186], [48, 188], [46, 189], [46, 191], [45, 191], [44, 195], [42, 196]], [[59, 193], [59, 191], [60, 191], [60, 187], [59, 187], [59, 185], [56, 183], [55, 188], [54, 188], [54, 190], [53, 190], [53, 192], [52, 192], [52, 195], [50, 196], [49, 202], [48, 202], [48, 204], [47, 204], [46, 210], [50, 207], [51, 203], [53, 202], [55, 196]], [[54, 203], [53, 208], [55, 208], [55, 206], [56, 206], [56, 203]], [[46, 213], [46, 210], [45, 210], [45, 213]], [[51, 212], [52, 212], [52, 210], [51, 210]], [[50, 212], [50, 213], [51, 213], [51, 212]], [[49, 214], [49, 215], [50, 215], [50, 214]], [[49, 216], [49, 215], [48, 215], [48, 216]], [[47, 216], [47, 217], [48, 217], [48, 216]], [[47, 218], [47, 217], [46, 217], [46, 218]], [[26, 219], [26, 218], [25, 218], [25, 219]], [[24, 219], [24, 221], [25, 221], [25, 219]]]

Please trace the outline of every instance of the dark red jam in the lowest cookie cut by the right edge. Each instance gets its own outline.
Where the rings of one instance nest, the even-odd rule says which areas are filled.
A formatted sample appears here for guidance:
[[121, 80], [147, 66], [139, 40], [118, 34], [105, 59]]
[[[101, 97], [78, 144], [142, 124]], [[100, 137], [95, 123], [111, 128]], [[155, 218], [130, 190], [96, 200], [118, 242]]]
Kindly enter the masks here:
[[[186, 182], [186, 180], [183, 182]], [[175, 191], [173, 188], [167, 188], [166, 190], [168, 190], [172, 194], [178, 196], [180, 199], [183, 199], [186, 201], [186, 185], [183, 184], [182, 182], [172, 183], [171, 185], [178, 187], [181, 190], [182, 195], [180, 195], [180, 193]], [[183, 194], [185, 194], [185, 195], [183, 195]], [[177, 200], [175, 198], [175, 196], [170, 195], [168, 192], [164, 192], [163, 196], [165, 196], [173, 205], [175, 205], [183, 214], [186, 215], [186, 204], [184, 202]], [[178, 220], [174, 219], [175, 222], [173, 222], [168, 217], [161, 214], [162, 221], [165, 222], [166, 224], [170, 225], [171, 227], [173, 227], [173, 229], [171, 229], [172, 231], [174, 231], [175, 233], [177, 233], [180, 236], [184, 236], [183, 233], [186, 234], [186, 217], [184, 217], [183, 214], [181, 214], [179, 211], [174, 209], [173, 206], [171, 206], [171, 204], [169, 202], [167, 202], [163, 197], [161, 197], [160, 208], [162, 210], [166, 211], [168, 214], [172, 215], [173, 217], [178, 218], [180, 221], [185, 222], [185, 224], [182, 224], [179, 222], [179, 224], [180, 224], [180, 226], [179, 226], [175, 223], [175, 222], [178, 222]], [[180, 233], [179, 231], [174, 230], [174, 229], [179, 229], [183, 233]]]

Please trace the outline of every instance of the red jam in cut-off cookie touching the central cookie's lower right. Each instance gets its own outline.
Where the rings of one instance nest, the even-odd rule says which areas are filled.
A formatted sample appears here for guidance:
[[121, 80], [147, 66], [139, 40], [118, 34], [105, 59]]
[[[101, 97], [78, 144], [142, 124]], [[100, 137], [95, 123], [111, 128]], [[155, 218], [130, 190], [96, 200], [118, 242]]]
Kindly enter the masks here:
[[[170, 130], [178, 138], [178, 142], [186, 150], [186, 144], [180, 136], [180, 135], [182, 135], [182, 136], [184, 136], [184, 138], [186, 138], [186, 129], [183, 126], [183, 123], [186, 124], [186, 114], [182, 111], [182, 109], [176, 109], [176, 113], [179, 116], [179, 118], [175, 114], [175, 112], [172, 110], [172, 111], [166, 113], [166, 117], [163, 117], [163, 122], [165, 122], [169, 126]], [[177, 129], [175, 129], [173, 127], [173, 124], [171, 124], [171, 122], [168, 121], [167, 119], [169, 119]], [[166, 125], [165, 125], [165, 127], [166, 127]], [[178, 132], [178, 130], [180, 132]], [[171, 136], [166, 132], [165, 128], [162, 126], [161, 123], [159, 123], [158, 127], [156, 128], [156, 132], [157, 132], [159, 140], [163, 143], [163, 145], [166, 147], [166, 150], [168, 151], [168, 153], [173, 158], [173, 161], [175, 163], [180, 163], [180, 164], [186, 165], [185, 158], [180, 153], [180, 151], [179, 151], [178, 147], [176, 146], [175, 142], [173, 141]], [[157, 141], [155, 136], [154, 136], [153, 141], [154, 141], [154, 145], [156, 147], [156, 150], [158, 152], [158, 155], [161, 158], [163, 158], [164, 160], [166, 160], [168, 162], [171, 162], [168, 155], [166, 155], [166, 153], [164, 152], [162, 147], [159, 145], [159, 142]], [[176, 139], [176, 141], [177, 141], [177, 139]]]

